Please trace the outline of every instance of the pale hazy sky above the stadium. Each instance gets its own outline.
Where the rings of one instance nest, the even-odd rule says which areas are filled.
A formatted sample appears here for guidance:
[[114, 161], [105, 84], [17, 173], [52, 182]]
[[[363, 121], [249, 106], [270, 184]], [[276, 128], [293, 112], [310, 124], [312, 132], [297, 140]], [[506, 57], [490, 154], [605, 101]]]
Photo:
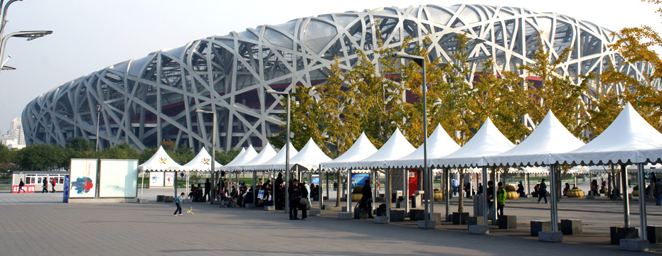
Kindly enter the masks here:
[[53, 34], [8, 41], [5, 54], [12, 57], [6, 65], [17, 69], [0, 73], [0, 132], [5, 133], [11, 119], [21, 116], [26, 104], [46, 91], [150, 52], [295, 18], [422, 4], [515, 6], [562, 13], [611, 30], [641, 24], [662, 28], [657, 7], [639, 0], [23, 0], [11, 4], [4, 34], [20, 30], [53, 30]]

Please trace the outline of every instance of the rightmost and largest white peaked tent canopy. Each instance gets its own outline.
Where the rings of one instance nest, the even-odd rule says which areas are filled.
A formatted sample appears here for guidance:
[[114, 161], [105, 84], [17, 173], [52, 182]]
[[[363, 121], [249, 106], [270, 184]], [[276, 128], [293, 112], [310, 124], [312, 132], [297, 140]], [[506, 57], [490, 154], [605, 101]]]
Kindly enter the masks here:
[[561, 165], [612, 165], [647, 162], [639, 150], [662, 147], [662, 134], [627, 104], [614, 122], [586, 145], [565, 153], [552, 154]]

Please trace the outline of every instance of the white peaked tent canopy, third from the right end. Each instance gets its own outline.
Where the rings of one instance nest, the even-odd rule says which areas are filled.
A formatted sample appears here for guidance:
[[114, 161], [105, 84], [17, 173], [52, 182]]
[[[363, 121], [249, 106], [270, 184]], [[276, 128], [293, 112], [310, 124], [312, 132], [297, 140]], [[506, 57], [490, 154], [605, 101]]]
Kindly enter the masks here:
[[430, 165], [434, 167], [480, 167], [485, 166], [484, 157], [497, 155], [515, 147], [506, 136], [487, 118], [469, 142], [450, 155], [431, 158]]

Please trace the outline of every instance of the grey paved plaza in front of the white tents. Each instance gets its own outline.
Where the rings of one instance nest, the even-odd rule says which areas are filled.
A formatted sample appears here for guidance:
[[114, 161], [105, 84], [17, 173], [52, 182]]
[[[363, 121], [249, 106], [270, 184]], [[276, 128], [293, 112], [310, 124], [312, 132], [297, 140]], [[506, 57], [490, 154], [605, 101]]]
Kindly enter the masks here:
[[[62, 194], [0, 193], [0, 255], [622, 255], [635, 252], [609, 245], [609, 226], [623, 223], [622, 206], [611, 201], [563, 200], [560, 218], [581, 218], [584, 235], [564, 243], [543, 243], [529, 236], [528, 221], [549, 219], [549, 205], [533, 199], [509, 201], [506, 214], [518, 216], [517, 230], [492, 228], [470, 235], [466, 226], [444, 224], [434, 230], [413, 221], [380, 225], [372, 220], [338, 220], [325, 210], [308, 221], [289, 221], [282, 211], [156, 203], [62, 204]], [[327, 201], [326, 204], [332, 204]], [[186, 213], [193, 206], [196, 214]], [[457, 205], [451, 206], [452, 211]], [[631, 211], [636, 213], [636, 201]], [[435, 211], [444, 212], [437, 204]], [[465, 211], [472, 211], [468, 204]], [[650, 206], [649, 225], [662, 224], [662, 208]], [[639, 226], [639, 216], [631, 216]], [[651, 251], [662, 252], [652, 245]]]

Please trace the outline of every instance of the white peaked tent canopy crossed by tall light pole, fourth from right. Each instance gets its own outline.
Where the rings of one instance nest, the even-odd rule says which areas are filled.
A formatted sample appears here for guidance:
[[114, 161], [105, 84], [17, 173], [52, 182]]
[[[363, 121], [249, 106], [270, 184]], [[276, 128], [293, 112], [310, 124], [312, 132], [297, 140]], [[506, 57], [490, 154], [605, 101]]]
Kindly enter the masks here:
[[[446, 130], [442, 128], [441, 124], [437, 124], [437, 128], [434, 128], [434, 132], [427, 138], [427, 159], [439, 158], [449, 155], [456, 150], [459, 150], [460, 146], [451, 138], [451, 136], [446, 133]], [[387, 167], [402, 167], [402, 168], [415, 168], [423, 166], [423, 145], [418, 147], [414, 152], [405, 157], [402, 157], [397, 160], [388, 160], [386, 161]]]

